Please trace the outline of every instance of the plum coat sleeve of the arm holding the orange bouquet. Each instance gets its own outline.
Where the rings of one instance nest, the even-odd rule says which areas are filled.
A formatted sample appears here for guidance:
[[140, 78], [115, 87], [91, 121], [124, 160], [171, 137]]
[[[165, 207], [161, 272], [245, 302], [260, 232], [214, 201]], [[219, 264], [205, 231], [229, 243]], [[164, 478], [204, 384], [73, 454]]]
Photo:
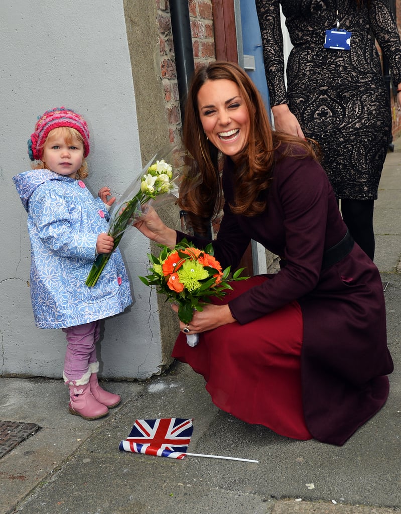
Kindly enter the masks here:
[[[329, 181], [312, 159], [287, 158], [277, 167], [265, 227], [279, 221], [284, 227], [286, 265], [271, 280], [229, 302], [233, 316], [248, 323], [307, 295], [320, 279], [325, 246]], [[280, 219], [281, 217], [281, 219]], [[344, 234], [338, 234], [338, 241]]]

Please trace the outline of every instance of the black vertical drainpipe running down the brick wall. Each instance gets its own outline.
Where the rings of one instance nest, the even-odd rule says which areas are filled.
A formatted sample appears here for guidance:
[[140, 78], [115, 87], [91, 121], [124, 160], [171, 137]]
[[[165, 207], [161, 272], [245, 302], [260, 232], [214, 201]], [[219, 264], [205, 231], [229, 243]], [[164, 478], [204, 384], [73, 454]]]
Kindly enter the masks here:
[[170, 15], [181, 123], [184, 124], [185, 102], [195, 69], [188, 0], [170, 0]]

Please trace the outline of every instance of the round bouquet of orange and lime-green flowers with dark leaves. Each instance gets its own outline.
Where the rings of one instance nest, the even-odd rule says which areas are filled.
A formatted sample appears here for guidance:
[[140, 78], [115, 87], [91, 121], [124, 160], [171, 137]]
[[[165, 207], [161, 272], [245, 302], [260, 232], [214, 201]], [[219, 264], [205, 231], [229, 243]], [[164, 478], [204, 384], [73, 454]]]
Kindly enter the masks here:
[[[222, 270], [220, 263], [213, 256], [213, 247], [207, 245], [205, 250], [195, 248], [183, 239], [172, 250], [161, 245], [158, 257], [148, 253], [151, 265], [150, 274], [139, 277], [158, 293], [167, 296], [166, 301], [178, 304], [178, 318], [189, 324], [194, 310], [203, 310], [203, 305], [210, 303], [211, 297], [221, 298], [227, 289], [232, 289], [229, 281], [245, 280], [240, 277], [244, 268], [238, 269], [230, 276], [230, 266]], [[195, 346], [198, 334], [187, 335], [187, 342]]]

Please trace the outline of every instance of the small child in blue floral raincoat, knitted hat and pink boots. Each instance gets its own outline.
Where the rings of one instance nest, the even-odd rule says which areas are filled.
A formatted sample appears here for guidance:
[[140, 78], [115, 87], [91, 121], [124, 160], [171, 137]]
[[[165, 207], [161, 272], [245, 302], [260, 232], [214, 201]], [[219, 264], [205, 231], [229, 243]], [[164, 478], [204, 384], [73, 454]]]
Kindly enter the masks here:
[[39, 118], [28, 141], [30, 159], [39, 162], [13, 180], [28, 212], [35, 324], [65, 332], [69, 412], [97, 419], [121, 401], [98, 383], [100, 320], [121, 313], [132, 298], [118, 249], [97, 284], [85, 285], [96, 255], [113, 251], [113, 237], [106, 232], [108, 209], [115, 201], [107, 199], [107, 187], [96, 199], [85, 187], [88, 153], [85, 120], [65, 107], [54, 108]]

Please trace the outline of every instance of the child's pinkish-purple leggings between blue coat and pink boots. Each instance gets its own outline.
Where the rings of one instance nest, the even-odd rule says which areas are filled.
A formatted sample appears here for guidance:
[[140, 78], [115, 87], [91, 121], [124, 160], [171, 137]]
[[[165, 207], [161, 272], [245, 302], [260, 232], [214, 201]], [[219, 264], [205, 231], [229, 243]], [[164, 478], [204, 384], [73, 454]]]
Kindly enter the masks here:
[[67, 339], [64, 359], [64, 380], [80, 380], [88, 373], [89, 364], [97, 362], [96, 343], [100, 336], [100, 321], [62, 328]]

